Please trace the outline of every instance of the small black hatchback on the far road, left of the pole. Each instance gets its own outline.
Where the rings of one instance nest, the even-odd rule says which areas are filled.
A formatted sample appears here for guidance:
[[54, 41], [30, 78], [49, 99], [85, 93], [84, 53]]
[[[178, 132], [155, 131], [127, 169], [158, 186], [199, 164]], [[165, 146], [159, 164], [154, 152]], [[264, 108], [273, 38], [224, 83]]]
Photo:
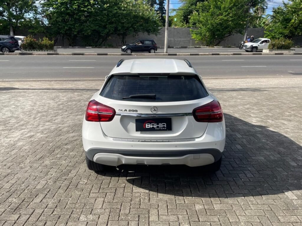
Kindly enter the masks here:
[[122, 47], [122, 52], [149, 52], [157, 51], [156, 42], [153, 39], [137, 39], [135, 42]]

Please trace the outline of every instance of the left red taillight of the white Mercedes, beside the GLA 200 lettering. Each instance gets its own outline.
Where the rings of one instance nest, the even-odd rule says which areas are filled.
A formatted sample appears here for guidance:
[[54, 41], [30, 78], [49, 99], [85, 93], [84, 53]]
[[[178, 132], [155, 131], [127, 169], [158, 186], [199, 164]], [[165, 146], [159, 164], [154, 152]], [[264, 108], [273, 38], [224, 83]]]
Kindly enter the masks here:
[[101, 104], [96, 100], [88, 103], [85, 119], [90, 122], [110, 122], [115, 116], [114, 108]]

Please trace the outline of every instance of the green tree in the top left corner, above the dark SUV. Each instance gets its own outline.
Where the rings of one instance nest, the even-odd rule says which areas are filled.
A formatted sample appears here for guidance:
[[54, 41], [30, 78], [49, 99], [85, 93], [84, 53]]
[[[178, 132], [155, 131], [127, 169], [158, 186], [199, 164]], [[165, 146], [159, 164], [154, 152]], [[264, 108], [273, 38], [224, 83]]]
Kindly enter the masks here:
[[10, 35], [14, 35], [19, 23], [34, 17], [36, 11], [34, 0], [0, 0], [0, 20], [7, 21], [2, 24], [8, 25]]

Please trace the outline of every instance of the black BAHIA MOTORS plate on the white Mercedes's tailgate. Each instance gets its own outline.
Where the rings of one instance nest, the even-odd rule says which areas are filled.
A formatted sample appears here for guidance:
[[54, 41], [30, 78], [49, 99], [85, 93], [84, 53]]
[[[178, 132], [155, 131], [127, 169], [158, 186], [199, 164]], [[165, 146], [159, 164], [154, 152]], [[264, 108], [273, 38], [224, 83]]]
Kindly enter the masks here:
[[135, 131], [168, 131], [172, 130], [171, 118], [135, 119]]

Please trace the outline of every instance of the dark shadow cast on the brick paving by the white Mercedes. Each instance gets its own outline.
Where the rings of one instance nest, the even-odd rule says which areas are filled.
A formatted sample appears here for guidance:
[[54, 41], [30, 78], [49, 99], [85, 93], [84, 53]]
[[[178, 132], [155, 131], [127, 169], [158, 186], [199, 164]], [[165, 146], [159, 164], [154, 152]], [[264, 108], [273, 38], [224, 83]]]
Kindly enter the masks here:
[[[123, 165], [100, 175], [124, 177], [133, 191], [186, 197], [244, 197], [302, 189], [302, 147], [281, 133], [229, 114], [220, 171], [207, 167]], [[150, 146], [152, 144], [150, 143]], [[297, 196], [302, 198], [298, 192]]]

